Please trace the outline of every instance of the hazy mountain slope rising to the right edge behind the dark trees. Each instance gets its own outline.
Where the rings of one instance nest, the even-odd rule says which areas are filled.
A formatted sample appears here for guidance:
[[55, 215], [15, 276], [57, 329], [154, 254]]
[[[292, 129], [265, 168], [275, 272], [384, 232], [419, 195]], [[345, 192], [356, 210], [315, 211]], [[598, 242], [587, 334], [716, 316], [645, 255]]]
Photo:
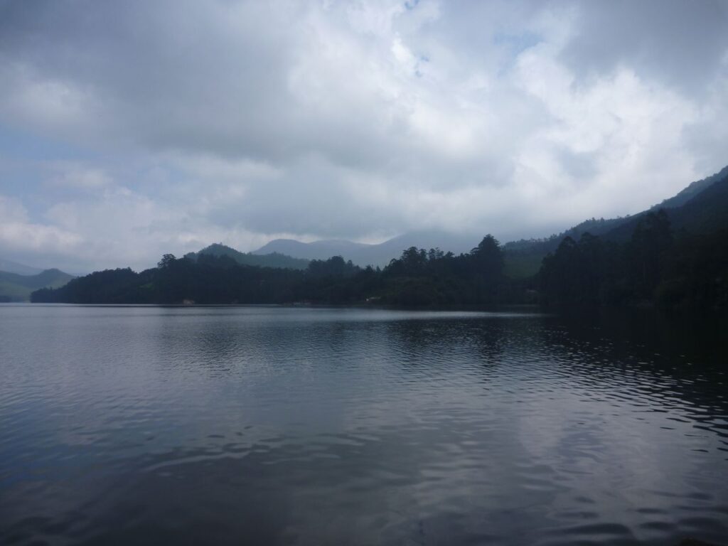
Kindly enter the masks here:
[[535, 274], [547, 253], [556, 250], [566, 237], [578, 240], [588, 232], [605, 240], [625, 242], [630, 239], [642, 216], [661, 208], [668, 213], [673, 231], [684, 229], [694, 234], [705, 234], [728, 227], [728, 167], [690, 183], [678, 194], [641, 213], [607, 220], [592, 218], [546, 239], [508, 242], [504, 247], [506, 272], [511, 277]]

